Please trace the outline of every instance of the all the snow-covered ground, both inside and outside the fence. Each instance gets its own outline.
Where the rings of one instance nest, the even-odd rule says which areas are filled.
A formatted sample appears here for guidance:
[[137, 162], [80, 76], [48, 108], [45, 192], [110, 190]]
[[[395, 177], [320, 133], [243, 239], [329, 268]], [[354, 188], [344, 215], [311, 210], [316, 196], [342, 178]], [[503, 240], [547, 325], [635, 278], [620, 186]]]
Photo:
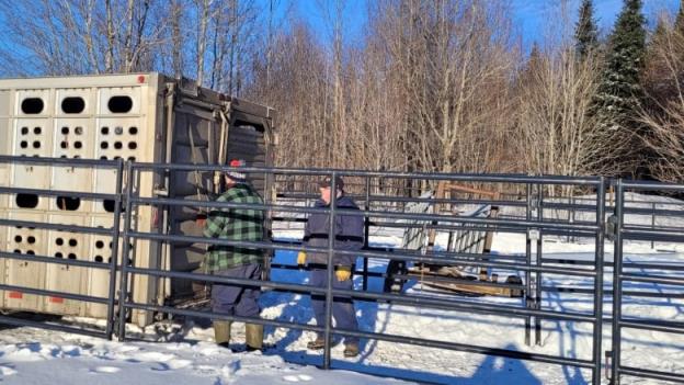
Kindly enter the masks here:
[[[296, 238], [297, 231], [282, 231], [282, 237]], [[400, 242], [397, 234], [376, 234], [376, 245]], [[592, 240], [574, 242], [548, 239], [545, 258], [593, 259]], [[523, 253], [525, 239], [520, 235], [498, 234], [493, 251]], [[612, 244], [606, 242], [606, 259], [612, 259]], [[684, 245], [627, 244], [627, 260], [682, 263]], [[276, 259], [294, 260], [292, 252], [278, 252]], [[381, 271], [385, 262], [371, 260], [371, 269]], [[504, 272], [501, 272], [502, 275]], [[276, 271], [274, 281], [306, 283], [299, 271]], [[355, 278], [361, 290], [361, 278]], [[545, 284], [591, 287], [590, 280], [545, 275]], [[611, 273], [605, 275], [611, 287]], [[428, 286], [411, 283], [409, 294], [448, 298]], [[371, 291], [380, 291], [381, 282], [371, 280]], [[672, 292], [672, 287], [629, 284], [625, 290]], [[464, 299], [466, 297], [459, 297]], [[521, 299], [500, 297], [466, 298], [479, 303], [518, 305]], [[609, 298], [608, 298], [609, 299]], [[314, 324], [310, 302], [306, 295], [266, 292], [261, 298], [262, 316], [270, 319]], [[543, 308], [591, 312], [592, 295], [547, 293]], [[410, 306], [356, 303], [363, 330], [401, 335], [440, 341], [478, 344], [490, 348], [591, 359], [592, 326], [589, 324], [548, 320], [543, 322], [542, 346], [526, 347], [524, 320]], [[604, 313], [611, 314], [609, 301]], [[684, 321], [684, 301], [625, 297], [626, 316], [657, 316], [663, 320]], [[76, 321], [76, 320], [75, 320]], [[79, 319], [78, 321], [92, 320]], [[203, 326], [204, 325], [204, 326]], [[236, 347], [243, 341], [237, 327]], [[132, 328], [129, 336], [156, 342], [110, 342], [102, 339], [32, 328], [0, 330], [0, 381], [9, 384], [588, 384], [591, 372], [573, 366], [517, 361], [474, 353], [445, 351], [408, 344], [362, 340], [362, 353], [344, 359], [342, 344], [333, 348], [332, 371], [322, 371], [322, 354], [306, 350], [312, 333], [300, 330], [266, 328], [266, 340], [275, 344], [264, 353], [232, 353], [212, 342], [213, 332], [206, 322], [184, 325], [159, 324], [144, 330]], [[609, 349], [609, 325], [604, 326], [603, 350]], [[684, 372], [684, 337], [660, 332], [624, 329], [623, 364]], [[356, 373], [361, 372], [361, 373]], [[392, 377], [408, 378], [404, 381]], [[604, 377], [604, 383], [607, 383]], [[623, 377], [623, 384], [660, 384], [661, 382]]]

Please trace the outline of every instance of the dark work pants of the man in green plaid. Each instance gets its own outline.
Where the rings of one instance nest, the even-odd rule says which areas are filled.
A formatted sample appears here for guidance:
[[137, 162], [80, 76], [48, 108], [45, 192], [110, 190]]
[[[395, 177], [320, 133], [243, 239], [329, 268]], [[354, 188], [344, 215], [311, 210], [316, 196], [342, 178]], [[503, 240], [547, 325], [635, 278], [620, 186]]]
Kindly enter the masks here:
[[[261, 280], [261, 265], [258, 263], [246, 264], [228, 270], [215, 271], [214, 275], [226, 278]], [[212, 309], [238, 317], [259, 316], [259, 286], [232, 286], [215, 283], [212, 286]]]

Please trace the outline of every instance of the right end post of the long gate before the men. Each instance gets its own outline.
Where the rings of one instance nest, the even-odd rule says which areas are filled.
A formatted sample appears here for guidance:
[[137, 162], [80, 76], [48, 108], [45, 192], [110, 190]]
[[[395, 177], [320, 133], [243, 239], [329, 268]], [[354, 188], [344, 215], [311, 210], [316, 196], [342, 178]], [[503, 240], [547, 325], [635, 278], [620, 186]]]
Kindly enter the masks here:
[[593, 336], [593, 359], [594, 367], [592, 370], [593, 382], [592, 384], [601, 384], [601, 344], [603, 333], [603, 237], [605, 235], [605, 179], [601, 178], [596, 191], [596, 248], [594, 257], [594, 271], [596, 276], [594, 279], [594, 336]]

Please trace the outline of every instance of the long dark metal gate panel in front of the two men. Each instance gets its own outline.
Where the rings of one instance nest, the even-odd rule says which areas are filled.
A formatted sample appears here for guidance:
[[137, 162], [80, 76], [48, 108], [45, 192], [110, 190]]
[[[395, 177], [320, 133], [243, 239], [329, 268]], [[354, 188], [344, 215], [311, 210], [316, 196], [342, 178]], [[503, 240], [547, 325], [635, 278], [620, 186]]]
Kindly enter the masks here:
[[[133, 185], [133, 181], [139, 178], [140, 173], [145, 172], [187, 172], [189, 170], [200, 171], [228, 171], [232, 170], [229, 167], [216, 167], [216, 166], [193, 166], [193, 165], [151, 165], [151, 163], [128, 163], [128, 182], [126, 185]], [[592, 326], [592, 354], [591, 358], [574, 358], [567, 356], [565, 354], [539, 354], [535, 352], [517, 351], [514, 349], [499, 349], [486, 346], [463, 343], [459, 341], [444, 341], [425, 338], [414, 338], [408, 336], [392, 335], [387, 332], [375, 332], [365, 330], [346, 330], [333, 327], [332, 318], [330, 314], [330, 306], [328, 306], [327, 322], [326, 325], [307, 325], [293, 321], [273, 320], [264, 318], [244, 318], [228, 316], [223, 314], [215, 314], [210, 312], [197, 312], [192, 309], [181, 309], [168, 306], [160, 303], [141, 303], [139, 301], [133, 301], [132, 295], [125, 294], [121, 296], [119, 301], [119, 317], [125, 319], [127, 309], [145, 310], [145, 312], [158, 312], [172, 315], [185, 315], [192, 317], [204, 317], [210, 319], [225, 319], [233, 321], [247, 321], [250, 324], [270, 325], [275, 327], [285, 327], [300, 330], [317, 331], [326, 336], [326, 349], [323, 354], [322, 366], [324, 369], [331, 367], [331, 336], [352, 336], [357, 338], [365, 338], [379, 341], [390, 341], [398, 343], [409, 343], [422, 347], [431, 347], [438, 349], [447, 349], [455, 351], [472, 352], [486, 355], [505, 356], [518, 360], [536, 361], [559, 365], [571, 365], [582, 369], [589, 369], [592, 371], [592, 378], [594, 383], [601, 381], [601, 341], [602, 341], [602, 324], [603, 324], [603, 240], [604, 240], [604, 191], [605, 183], [601, 178], [566, 178], [566, 177], [523, 177], [523, 175], [469, 175], [469, 174], [436, 174], [436, 173], [402, 173], [402, 172], [368, 172], [368, 171], [350, 171], [350, 170], [306, 170], [306, 169], [276, 169], [276, 168], [241, 168], [241, 172], [246, 173], [260, 173], [270, 175], [286, 175], [286, 177], [299, 177], [311, 180], [320, 179], [321, 177], [329, 175], [331, 180], [335, 180], [335, 177], [344, 177], [347, 181], [356, 181], [357, 189], [356, 197], [362, 199], [368, 196], [368, 191], [363, 191], [363, 186], [367, 186], [371, 183], [368, 180], [385, 178], [406, 181], [406, 183], [398, 183], [401, 185], [420, 185], [420, 183], [426, 183], [430, 181], [445, 180], [453, 182], [464, 183], [485, 183], [485, 184], [515, 184], [521, 191], [527, 191], [528, 199], [525, 201], [524, 195], [515, 195], [509, 199], [499, 199], [495, 201], [498, 205], [510, 205], [512, 207], [520, 207], [524, 212], [515, 217], [499, 216], [495, 218], [487, 217], [474, 217], [474, 216], [457, 216], [453, 214], [443, 213], [411, 213], [395, 210], [373, 210], [374, 202], [369, 202], [363, 210], [349, 211], [339, 210], [334, 205], [331, 208], [314, 208], [308, 206], [292, 206], [276, 203], [266, 203], [263, 205], [248, 205], [248, 204], [227, 204], [206, 201], [191, 201], [191, 200], [176, 200], [170, 197], [142, 197], [139, 194], [128, 189], [126, 190], [126, 208], [125, 208], [125, 226], [124, 226], [124, 253], [127, 251], [127, 245], [133, 244], [135, 240], [148, 240], [158, 241], [162, 244], [169, 242], [197, 242], [208, 245], [225, 245], [225, 246], [241, 246], [241, 247], [256, 247], [264, 250], [306, 250], [318, 251], [328, 254], [329, 262], [332, 260], [333, 253], [335, 254], [350, 254], [354, 257], [361, 257], [364, 260], [368, 258], [384, 259], [384, 260], [400, 260], [412, 263], [445, 263], [447, 265], [470, 265], [470, 267], [489, 267], [499, 268], [510, 271], [517, 271], [525, 276], [527, 281], [526, 285], [514, 283], [493, 283], [493, 282], [477, 282], [480, 285], [501, 285], [514, 290], [524, 291], [526, 295], [520, 299], [517, 304], [486, 304], [486, 303], [472, 303], [468, 299], [461, 298], [436, 298], [428, 297], [423, 295], [407, 295], [402, 294], [387, 294], [378, 292], [363, 292], [363, 291], [343, 291], [332, 288], [333, 270], [328, 269], [328, 286], [326, 288], [312, 287], [303, 284], [288, 284], [281, 282], [266, 282], [266, 281], [249, 281], [241, 279], [227, 279], [217, 275], [197, 274], [197, 273], [183, 273], [163, 271], [161, 269], [153, 268], [136, 268], [129, 265], [122, 265], [122, 283], [121, 287], [128, 287], [127, 282], [136, 276], [149, 276], [159, 280], [171, 279], [191, 279], [203, 282], [214, 282], [223, 284], [236, 284], [243, 286], [260, 286], [262, 288], [287, 291], [301, 294], [318, 294], [326, 297], [326, 302], [330, 305], [332, 297], [351, 297], [355, 301], [364, 302], [381, 302], [400, 304], [420, 308], [434, 308], [446, 309], [454, 312], [469, 312], [481, 315], [494, 315], [501, 317], [508, 317], [513, 319], [534, 319], [535, 324], [540, 325], [542, 320], [560, 320], [570, 322], [585, 322]], [[418, 182], [418, 183], [417, 183]], [[345, 183], [345, 188], [351, 185]], [[567, 204], [560, 203], [557, 200], [544, 200], [544, 191], [556, 190], [556, 188], [571, 186], [578, 189], [585, 189], [596, 194], [597, 199], [593, 204], [583, 204], [574, 208], [583, 210], [591, 213], [591, 218], [584, 220], [570, 222], [566, 218], [559, 218], [557, 215], [549, 215], [550, 212], [567, 211]], [[352, 189], [350, 186], [350, 189]], [[526, 189], [526, 190], [525, 190]], [[535, 191], [537, 199], [532, 199], [532, 191]], [[401, 189], [397, 190], [398, 193], [403, 193]], [[403, 194], [402, 194], [403, 195]], [[375, 196], [372, 201], [375, 203], [391, 202], [420, 202], [422, 197], [407, 199], [406, 196]], [[440, 201], [442, 203], [448, 203], [447, 200]], [[491, 202], [489, 204], [492, 204]], [[469, 252], [454, 252], [454, 253], [441, 253], [438, 251], [425, 252], [422, 250], [401, 249], [394, 250], [392, 252], [384, 250], [366, 249], [361, 251], [339, 250], [333, 248], [332, 241], [329, 242], [327, 248], [310, 248], [294, 245], [283, 245], [274, 241], [263, 242], [244, 242], [224, 239], [207, 239], [201, 236], [182, 236], [182, 235], [166, 235], [157, 234], [146, 230], [136, 230], [130, 227], [132, 215], [136, 212], [137, 207], [152, 206], [152, 207], [172, 207], [172, 206], [190, 206], [190, 207], [239, 207], [239, 208], [252, 208], [267, 212], [288, 212], [288, 213], [326, 213], [334, 218], [335, 215], [355, 215], [363, 216], [364, 218], [373, 218], [374, 222], [378, 220], [404, 220], [400, 226], [422, 226], [433, 227], [437, 229], [472, 229], [485, 231], [508, 231], [515, 234], [523, 234], [527, 238], [527, 245], [538, 242], [540, 245], [542, 239], [545, 236], [581, 236], [586, 238], [593, 238], [595, 241], [596, 250], [594, 258], [589, 261], [584, 267], [578, 268], [574, 265], [563, 265], [567, 262], [563, 261], [545, 261], [540, 258], [540, 246], [537, 248], [537, 258], [533, 258], [531, 248], [527, 248], [526, 256], [481, 256]], [[371, 208], [369, 208], [371, 207]], [[535, 213], [533, 216], [532, 213]], [[546, 214], [545, 214], [546, 213]], [[368, 222], [366, 222], [368, 223]], [[330, 226], [334, 226], [334, 220], [330, 219]], [[386, 226], [386, 225], [383, 225]], [[388, 226], [388, 225], [387, 225]], [[571, 262], [570, 262], [571, 263]], [[330, 267], [331, 263], [328, 263]], [[364, 263], [366, 267], [366, 263]], [[358, 274], [364, 276], [371, 275], [367, 271], [358, 271]], [[542, 281], [543, 276], [550, 275], [566, 275], [577, 276], [584, 280], [590, 280], [592, 290], [589, 297], [591, 298], [591, 312], [580, 310], [556, 310], [552, 308], [544, 308], [539, 296], [542, 295]], [[534, 276], [534, 279], [533, 279]], [[533, 287], [529, 285], [529, 281], [535, 281], [536, 285]], [[539, 330], [539, 329], [538, 329]], [[537, 331], [538, 332], [538, 331]], [[125, 339], [125, 328], [123, 324], [119, 324], [119, 338]]]

